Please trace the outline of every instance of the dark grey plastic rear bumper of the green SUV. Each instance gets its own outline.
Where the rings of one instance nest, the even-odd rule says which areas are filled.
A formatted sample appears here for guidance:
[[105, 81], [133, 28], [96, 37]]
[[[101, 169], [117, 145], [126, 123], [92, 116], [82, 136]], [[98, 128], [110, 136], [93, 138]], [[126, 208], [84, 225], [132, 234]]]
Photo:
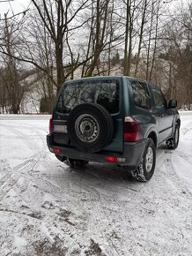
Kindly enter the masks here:
[[[59, 149], [59, 155], [65, 156], [67, 158], [85, 160], [89, 162], [103, 162], [103, 163], [113, 163], [119, 166], [125, 166], [128, 169], [137, 169], [137, 166], [141, 162], [142, 156], [144, 154], [144, 149], [147, 143], [147, 139], [141, 139], [137, 142], [124, 142], [123, 152], [110, 152], [110, 151], [100, 151], [98, 153], [86, 153], [78, 150], [74, 147], [63, 147], [54, 145], [53, 137], [51, 134], [47, 135], [47, 144], [50, 152], [54, 153], [53, 150]], [[106, 156], [116, 157], [118, 159], [124, 159], [123, 162], [107, 162]]]

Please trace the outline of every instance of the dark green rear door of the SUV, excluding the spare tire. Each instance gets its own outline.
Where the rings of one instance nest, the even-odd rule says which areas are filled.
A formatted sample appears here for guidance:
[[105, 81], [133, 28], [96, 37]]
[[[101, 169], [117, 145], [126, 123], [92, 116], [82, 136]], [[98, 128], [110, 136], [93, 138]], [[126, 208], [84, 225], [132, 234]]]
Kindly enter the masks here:
[[122, 152], [122, 79], [79, 79], [66, 83], [55, 104], [54, 142], [71, 146], [66, 130], [70, 110], [82, 103], [96, 102], [107, 109], [114, 121], [114, 136], [107, 151]]

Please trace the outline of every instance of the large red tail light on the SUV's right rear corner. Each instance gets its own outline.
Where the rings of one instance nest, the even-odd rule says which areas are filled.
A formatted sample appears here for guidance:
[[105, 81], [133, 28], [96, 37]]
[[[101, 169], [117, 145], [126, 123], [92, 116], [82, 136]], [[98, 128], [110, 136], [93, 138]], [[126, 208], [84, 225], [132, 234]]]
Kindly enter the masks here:
[[123, 131], [124, 141], [137, 141], [140, 139], [139, 125], [133, 117], [131, 116], [125, 117], [123, 129], [124, 129]]

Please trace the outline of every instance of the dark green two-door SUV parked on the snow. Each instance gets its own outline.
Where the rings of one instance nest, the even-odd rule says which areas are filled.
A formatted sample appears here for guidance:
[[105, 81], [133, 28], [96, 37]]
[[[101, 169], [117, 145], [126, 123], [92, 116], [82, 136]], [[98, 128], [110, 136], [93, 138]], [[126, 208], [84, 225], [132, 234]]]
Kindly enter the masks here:
[[144, 80], [93, 77], [70, 80], [57, 96], [49, 122], [48, 148], [60, 161], [84, 167], [108, 162], [148, 181], [156, 147], [179, 143], [177, 102], [168, 105], [159, 87]]

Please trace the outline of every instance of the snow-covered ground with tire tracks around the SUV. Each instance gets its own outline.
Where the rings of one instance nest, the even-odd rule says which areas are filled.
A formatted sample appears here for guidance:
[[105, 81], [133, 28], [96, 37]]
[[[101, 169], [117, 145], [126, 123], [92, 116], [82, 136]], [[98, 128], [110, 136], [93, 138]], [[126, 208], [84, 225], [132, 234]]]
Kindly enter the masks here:
[[0, 116], [0, 255], [192, 255], [192, 112], [154, 176], [71, 169], [48, 151], [48, 116]]

